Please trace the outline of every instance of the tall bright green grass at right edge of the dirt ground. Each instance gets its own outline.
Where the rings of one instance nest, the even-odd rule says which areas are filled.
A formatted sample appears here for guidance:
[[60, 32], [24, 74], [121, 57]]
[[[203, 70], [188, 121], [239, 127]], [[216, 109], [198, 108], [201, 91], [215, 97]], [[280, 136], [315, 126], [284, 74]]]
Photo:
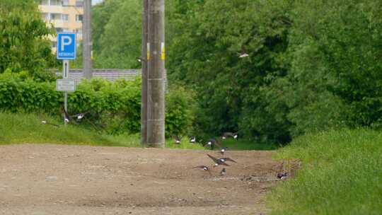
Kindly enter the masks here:
[[381, 214], [382, 134], [343, 129], [301, 136], [278, 159], [299, 158], [296, 178], [268, 197], [272, 214]]

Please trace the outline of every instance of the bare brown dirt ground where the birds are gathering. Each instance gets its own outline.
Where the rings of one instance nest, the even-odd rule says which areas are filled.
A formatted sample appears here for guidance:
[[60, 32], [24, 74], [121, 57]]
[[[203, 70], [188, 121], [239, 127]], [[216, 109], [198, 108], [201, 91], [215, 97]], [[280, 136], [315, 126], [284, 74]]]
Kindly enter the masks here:
[[271, 151], [23, 144], [0, 146], [0, 214], [267, 214], [276, 182]]

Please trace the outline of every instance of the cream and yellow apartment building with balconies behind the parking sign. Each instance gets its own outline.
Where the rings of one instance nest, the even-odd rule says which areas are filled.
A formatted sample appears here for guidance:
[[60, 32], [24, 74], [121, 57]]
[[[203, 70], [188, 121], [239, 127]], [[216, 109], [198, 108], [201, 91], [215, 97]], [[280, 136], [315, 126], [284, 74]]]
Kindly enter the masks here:
[[[40, 0], [42, 19], [53, 24], [57, 33], [76, 33], [77, 44], [82, 40], [83, 0]], [[52, 51], [57, 50], [57, 38], [52, 40]]]

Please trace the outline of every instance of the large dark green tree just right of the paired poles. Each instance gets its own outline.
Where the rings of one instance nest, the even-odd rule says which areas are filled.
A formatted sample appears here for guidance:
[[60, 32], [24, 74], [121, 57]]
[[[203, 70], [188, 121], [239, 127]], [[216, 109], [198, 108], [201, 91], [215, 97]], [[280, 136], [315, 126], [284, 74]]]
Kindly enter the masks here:
[[[265, 141], [289, 140], [279, 125], [286, 122], [278, 122], [260, 96], [260, 87], [287, 73], [281, 59], [287, 49], [289, 6], [288, 1], [206, 0], [182, 5], [170, 15], [178, 34], [169, 47], [168, 74], [197, 91], [200, 130], [240, 130]], [[267, 123], [255, 122], [260, 117]]]

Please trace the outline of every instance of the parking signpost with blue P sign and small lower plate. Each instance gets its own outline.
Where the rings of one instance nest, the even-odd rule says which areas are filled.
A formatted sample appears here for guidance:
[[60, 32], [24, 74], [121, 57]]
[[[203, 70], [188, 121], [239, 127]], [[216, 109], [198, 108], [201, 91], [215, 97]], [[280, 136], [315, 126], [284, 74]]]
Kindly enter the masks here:
[[[76, 83], [69, 78], [69, 60], [76, 59], [76, 34], [57, 34], [57, 59], [62, 59], [62, 78], [56, 82], [56, 90], [64, 91], [64, 109], [68, 112], [68, 91], [76, 90]], [[67, 123], [64, 120], [65, 124]]]

